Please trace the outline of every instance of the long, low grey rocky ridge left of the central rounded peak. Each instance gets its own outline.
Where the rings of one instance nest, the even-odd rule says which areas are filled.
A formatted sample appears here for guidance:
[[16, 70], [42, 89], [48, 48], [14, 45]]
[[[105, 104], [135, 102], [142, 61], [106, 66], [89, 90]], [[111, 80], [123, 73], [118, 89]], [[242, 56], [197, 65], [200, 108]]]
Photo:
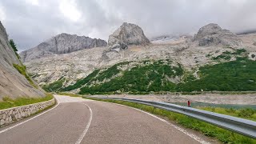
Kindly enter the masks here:
[[40, 43], [38, 46], [35, 46], [30, 50], [22, 51], [19, 55], [22, 58], [22, 62], [26, 62], [52, 54], [68, 54], [78, 50], [101, 46], [107, 46], [106, 41], [102, 39], [78, 36], [76, 34], [72, 35], [62, 33], [50, 38], [46, 42]]

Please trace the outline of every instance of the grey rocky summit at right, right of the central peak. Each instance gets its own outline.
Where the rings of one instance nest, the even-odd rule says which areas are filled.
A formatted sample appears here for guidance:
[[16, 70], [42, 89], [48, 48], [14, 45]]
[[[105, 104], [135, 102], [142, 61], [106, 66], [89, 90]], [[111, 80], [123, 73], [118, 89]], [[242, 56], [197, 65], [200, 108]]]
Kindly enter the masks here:
[[210, 23], [198, 30], [194, 35], [194, 42], [199, 46], [240, 46], [242, 40], [230, 30], [222, 30], [218, 24]]

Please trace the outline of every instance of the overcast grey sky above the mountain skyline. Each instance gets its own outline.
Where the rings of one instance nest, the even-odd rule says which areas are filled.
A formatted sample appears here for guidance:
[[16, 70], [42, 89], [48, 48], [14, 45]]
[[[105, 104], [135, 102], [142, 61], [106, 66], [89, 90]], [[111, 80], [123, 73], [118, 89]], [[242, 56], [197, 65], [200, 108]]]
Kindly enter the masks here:
[[148, 38], [194, 34], [210, 22], [233, 32], [256, 29], [256, 0], [1, 0], [0, 20], [18, 50], [56, 34], [107, 41], [122, 22]]

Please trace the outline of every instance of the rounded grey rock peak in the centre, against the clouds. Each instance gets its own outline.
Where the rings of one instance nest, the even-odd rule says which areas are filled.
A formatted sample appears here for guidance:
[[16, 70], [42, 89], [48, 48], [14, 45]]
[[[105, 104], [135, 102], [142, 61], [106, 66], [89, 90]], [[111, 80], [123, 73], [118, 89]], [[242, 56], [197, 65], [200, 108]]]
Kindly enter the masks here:
[[150, 40], [146, 38], [141, 27], [132, 23], [124, 22], [122, 26], [110, 35], [108, 46], [110, 50], [126, 50], [128, 46], [146, 46], [150, 44]]

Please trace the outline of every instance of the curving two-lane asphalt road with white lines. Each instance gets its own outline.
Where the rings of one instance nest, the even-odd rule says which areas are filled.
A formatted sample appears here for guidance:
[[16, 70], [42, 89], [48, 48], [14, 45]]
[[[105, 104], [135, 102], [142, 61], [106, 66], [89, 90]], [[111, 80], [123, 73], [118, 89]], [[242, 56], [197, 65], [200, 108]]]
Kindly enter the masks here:
[[2, 127], [0, 143], [207, 143], [196, 134], [127, 106], [55, 97], [58, 106], [46, 113]]

